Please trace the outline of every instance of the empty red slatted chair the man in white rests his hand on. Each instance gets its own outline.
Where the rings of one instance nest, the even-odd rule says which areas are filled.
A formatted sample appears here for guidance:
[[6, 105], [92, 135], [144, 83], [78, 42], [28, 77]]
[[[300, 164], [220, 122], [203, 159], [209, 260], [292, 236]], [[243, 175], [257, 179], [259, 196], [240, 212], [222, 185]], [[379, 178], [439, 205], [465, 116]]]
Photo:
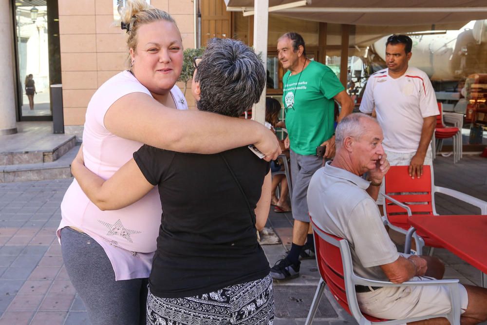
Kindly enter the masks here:
[[[408, 217], [412, 214], [438, 215], [434, 207], [434, 193], [444, 193], [480, 208], [481, 214], [487, 214], [487, 202], [465, 193], [434, 185], [431, 166], [423, 166], [421, 178], [412, 179], [409, 166], [391, 166], [384, 181], [384, 224], [391, 229], [407, 234], [410, 229]], [[416, 252], [421, 255], [423, 247], [442, 247], [435, 240], [421, 232], [413, 235]]]

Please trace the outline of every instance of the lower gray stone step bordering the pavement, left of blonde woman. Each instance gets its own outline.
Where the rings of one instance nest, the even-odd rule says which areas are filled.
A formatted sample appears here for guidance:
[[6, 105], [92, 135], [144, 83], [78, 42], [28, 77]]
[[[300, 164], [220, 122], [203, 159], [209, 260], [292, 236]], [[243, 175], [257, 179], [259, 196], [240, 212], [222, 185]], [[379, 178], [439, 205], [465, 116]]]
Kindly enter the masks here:
[[52, 162], [0, 166], [0, 183], [71, 178], [71, 162], [80, 145], [75, 143], [68, 152]]

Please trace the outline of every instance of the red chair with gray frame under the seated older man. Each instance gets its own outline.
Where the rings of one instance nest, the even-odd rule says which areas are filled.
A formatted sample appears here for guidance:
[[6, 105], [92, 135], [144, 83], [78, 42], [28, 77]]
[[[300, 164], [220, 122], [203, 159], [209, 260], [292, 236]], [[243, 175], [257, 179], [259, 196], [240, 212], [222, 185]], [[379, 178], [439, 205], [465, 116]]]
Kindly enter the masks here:
[[460, 324], [460, 297], [458, 294], [458, 280], [431, 280], [431, 281], [407, 281], [401, 284], [393, 284], [387, 281], [369, 280], [357, 276], [352, 265], [352, 255], [348, 241], [343, 238], [324, 232], [313, 222], [316, 262], [318, 264], [319, 280], [313, 303], [311, 304], [305, 325], [311, 325], [318, 309], [319, 301], [323, 295], [325, 284], [328, 285], [333, 297], [338, 304], [351, 314], [360, 325], [370, 324], [404, 324], [432, 318], [431, 315], [403, 320], [385, 320], [363, 314], [356, 297], [355, 286], [370, 287], [405, 287], [405, 286], [437, 286], [446, 285], [450, 287], [450, 299], [452, 308], [449, 314], [436, 315], [434, 317], [446, 317], [450, 324]]

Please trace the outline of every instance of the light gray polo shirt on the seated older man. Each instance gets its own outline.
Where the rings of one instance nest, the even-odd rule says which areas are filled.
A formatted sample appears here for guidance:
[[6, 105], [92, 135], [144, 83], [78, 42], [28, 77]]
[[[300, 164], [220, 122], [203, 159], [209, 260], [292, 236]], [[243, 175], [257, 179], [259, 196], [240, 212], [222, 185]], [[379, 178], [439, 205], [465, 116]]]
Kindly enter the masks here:
[[365, 191], [369, 185], [360, 176], [327, 162], [309, 183], [309, 213], [319, 228], [350, 243], [356, 275], [388, 281], [380, 265], [394, 262], [400, 254], [375, 201]]

